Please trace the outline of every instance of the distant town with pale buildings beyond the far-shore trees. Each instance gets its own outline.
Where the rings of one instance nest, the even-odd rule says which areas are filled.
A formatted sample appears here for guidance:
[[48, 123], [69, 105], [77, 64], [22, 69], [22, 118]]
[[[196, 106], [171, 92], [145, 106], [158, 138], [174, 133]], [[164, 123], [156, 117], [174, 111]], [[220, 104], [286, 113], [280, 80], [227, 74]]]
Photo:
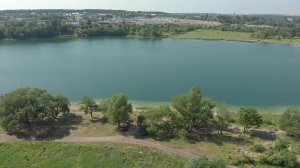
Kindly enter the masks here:
[[[207, 16], [206, 16], [207, 15]], [[221, 14], [206, 13], [165, 13], [152, 11], [125, 11], [125, 10], [102, 10], [102, 9], [85, 9], [85, 10], [59, 10], [59, 9], [39, 9], [39, 10], [2, 10], [0, 11], [0, 24], [14, 21], [36, 21], [44, 23], [46, 20], [61, 19], [74, 26], [85, 24], [87, 20], [93, 25], [120, 26], [126, 24], [177, 24], [177, 25], [208, 25], [221, 26], [218, 16]], [[265, 17], [271, 19], [286, 19], [293, 22], [300, 19], [300, 15], [265, 15], [265, 14], [235, 14], [225, 16], [234, 17]], [[226, 23], [225, 23], [226, 24]], [[253, 27], [252, 24], [246, 24]], [[265, 25], [266, 27], [271, 27]]]

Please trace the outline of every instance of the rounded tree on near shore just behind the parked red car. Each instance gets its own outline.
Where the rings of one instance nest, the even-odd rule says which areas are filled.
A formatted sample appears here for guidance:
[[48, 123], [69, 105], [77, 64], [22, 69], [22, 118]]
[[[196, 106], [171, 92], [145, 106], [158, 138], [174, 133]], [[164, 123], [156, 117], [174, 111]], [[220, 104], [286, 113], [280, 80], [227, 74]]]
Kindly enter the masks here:
[[103, 113], [109, 122], [112, 124], [117, 123], [118, 127], [120, 127], [121, 122], [129, 119], [129, 113], [132, 112], [132, 105], [127, 103], [127, 96], [123, 93], [106, 99], [100, 107], [104, 110]]

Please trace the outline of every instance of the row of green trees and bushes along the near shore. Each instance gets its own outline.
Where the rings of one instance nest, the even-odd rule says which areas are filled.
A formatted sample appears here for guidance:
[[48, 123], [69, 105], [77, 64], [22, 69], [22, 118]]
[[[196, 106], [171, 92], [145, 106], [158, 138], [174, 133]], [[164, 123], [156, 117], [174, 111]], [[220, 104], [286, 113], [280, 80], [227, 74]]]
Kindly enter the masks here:
[[[45, 89], [21, 87], [0, 98], [0, 124], [8, 132], [36, 126], [45, 120], [55, 120], [60, 113], [70, 112], [70, 102], [64, 95], [51, 95]], [[93, 112], [102, 112], [111, 124], [129, 120], [132, 105], [125, 94], [116, 94], [97, 104], [92, 98], [84, 97], [79, 103], [80, 109], [93, 116]], [[199, 86], [188, 93], [174, 96], [171, 106], [150, 108], [141, 112], [137, 123], [147, 128], [152, 135], [164, 136], [178, 133], [186, 136], [196, 127], [205, 127], [206, 123], [218, 120], [218, 133], [226, 130], [231, 114], [225, 102], [217, 103], [203, 97]], [[238, 112], [238, 124], [249, 129], [259, 128], [262, 116], [255, 108], [241, 108]], [[300, 110], [291, 107], [283, 113], [280, 128], [290, 136], [300, 136]]]

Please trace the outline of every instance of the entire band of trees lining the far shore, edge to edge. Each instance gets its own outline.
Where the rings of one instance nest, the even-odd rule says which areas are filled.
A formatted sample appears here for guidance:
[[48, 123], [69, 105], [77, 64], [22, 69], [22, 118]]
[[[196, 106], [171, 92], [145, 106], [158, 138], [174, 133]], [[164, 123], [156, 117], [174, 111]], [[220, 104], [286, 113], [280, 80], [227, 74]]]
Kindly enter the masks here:
[[300, 37], [300, 25], [293, 27], [249, 27], [246, 25], [231, 25], [222, 27], [200, 26], [200, 25], [175, 25], [175, 24], [126, 24], [118, 26], [93, 25], [91, 21], [85, 24], [74, 26], [63, 20], [48, 20], [39, 24], [36, 21], [21, 21], [4, 23], [0, 25], [1, 39], [30, 39], [30, 38], [51, 38], [62, 35], [75, 36], [124, 36], [132, 35], [141, 38], [160, 38], [163, 33], [180, 34], [196, 29], [221, 29], [222, 31], [250, 32], [250, 37], [256, 38], [293, 38]]

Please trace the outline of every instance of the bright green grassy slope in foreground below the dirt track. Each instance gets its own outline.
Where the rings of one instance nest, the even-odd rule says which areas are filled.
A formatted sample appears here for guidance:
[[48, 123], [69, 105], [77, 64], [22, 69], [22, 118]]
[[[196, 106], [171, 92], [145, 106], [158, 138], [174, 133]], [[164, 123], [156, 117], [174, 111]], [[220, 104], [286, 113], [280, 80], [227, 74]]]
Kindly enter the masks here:
[[63, 142], [0, 143], [0, 167], [180, 168], [186, 158], [141, 146]]

